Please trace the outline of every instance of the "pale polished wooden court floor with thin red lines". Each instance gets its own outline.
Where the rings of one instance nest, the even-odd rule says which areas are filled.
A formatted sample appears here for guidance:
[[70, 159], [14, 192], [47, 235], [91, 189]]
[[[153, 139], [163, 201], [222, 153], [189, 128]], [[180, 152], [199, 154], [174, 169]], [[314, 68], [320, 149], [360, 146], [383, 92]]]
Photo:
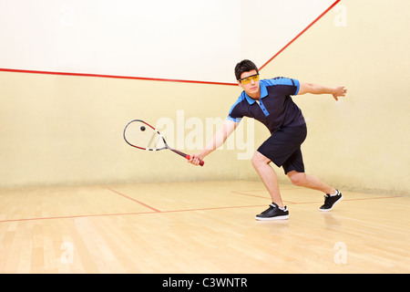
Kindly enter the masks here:
[[410, 198], [260, 182], [0, 189], [0, 273], [409, 273]]

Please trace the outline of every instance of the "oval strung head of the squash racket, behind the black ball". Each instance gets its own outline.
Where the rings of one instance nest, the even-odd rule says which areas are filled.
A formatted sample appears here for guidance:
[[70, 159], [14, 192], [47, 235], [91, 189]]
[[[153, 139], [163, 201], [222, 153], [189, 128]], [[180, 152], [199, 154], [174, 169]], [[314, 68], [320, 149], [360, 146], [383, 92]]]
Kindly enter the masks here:
[[159, 131], [144, 120], [129, 121], [123, 136], [130, 146], [141, 150], [160, 151], [168, 147]]

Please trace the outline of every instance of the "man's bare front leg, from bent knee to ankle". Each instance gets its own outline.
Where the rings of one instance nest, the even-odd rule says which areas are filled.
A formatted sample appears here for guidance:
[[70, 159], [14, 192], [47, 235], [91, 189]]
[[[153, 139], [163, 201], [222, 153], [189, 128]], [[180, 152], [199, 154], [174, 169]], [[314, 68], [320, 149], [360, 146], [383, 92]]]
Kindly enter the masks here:
[[256, 172], [261, 177], [262, 182], [265, 184], [266, 189], [271, 194], [272, 202], [276, 203], [280, 208], [283, 208], [281, 193], [279, 192], [278, 179], [276, 173], [273, 171], [272, 166], [269, 164], [271, 160], [259, 151], [256, 151], [252, 157], [252, 164]]

